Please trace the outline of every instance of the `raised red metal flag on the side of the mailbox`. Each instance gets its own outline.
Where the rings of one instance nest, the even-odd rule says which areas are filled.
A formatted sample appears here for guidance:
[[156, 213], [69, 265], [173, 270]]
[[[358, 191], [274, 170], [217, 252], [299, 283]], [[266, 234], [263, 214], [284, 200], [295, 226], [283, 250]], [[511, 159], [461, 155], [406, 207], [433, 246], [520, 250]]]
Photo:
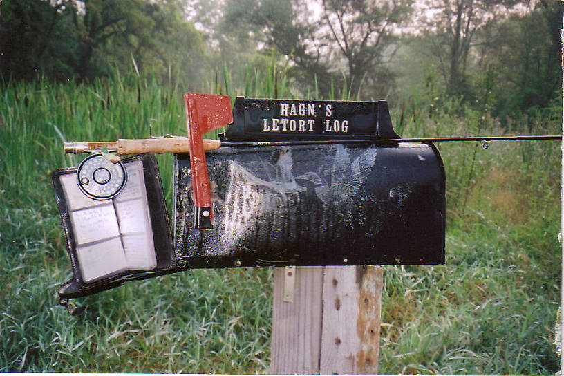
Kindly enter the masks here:
[[190, 138], [190, 164], [194, 189], [195, 227], [213, 229], [212, 195], [207, 176], [202, 135], [233, 122], [231, 100], [227, 95], [186, 93], [186, 127]]

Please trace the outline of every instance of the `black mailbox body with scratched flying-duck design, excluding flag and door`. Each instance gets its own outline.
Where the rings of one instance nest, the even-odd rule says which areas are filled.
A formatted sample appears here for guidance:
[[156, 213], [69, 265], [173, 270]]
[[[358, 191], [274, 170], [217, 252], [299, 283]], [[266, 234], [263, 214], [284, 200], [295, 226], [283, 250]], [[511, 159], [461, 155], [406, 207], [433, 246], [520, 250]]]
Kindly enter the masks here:
[[444, 263], [432, 144], [229, 147], [207, 163], [215, 226], [200, 231], [189, 158], [176, 156], [175, 252], [190, 267]]

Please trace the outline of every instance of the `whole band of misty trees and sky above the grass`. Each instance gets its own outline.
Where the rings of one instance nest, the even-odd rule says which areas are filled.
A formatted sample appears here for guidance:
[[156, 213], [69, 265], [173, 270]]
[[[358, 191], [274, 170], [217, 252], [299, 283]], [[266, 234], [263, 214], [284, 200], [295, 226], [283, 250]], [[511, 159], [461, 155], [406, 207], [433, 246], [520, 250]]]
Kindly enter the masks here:
[[561, 1], [5, 0], [4, 82], [116, 69], [198, 87], [274, 54], [301, 93], [414, 92], [505, 117], [561, 104]]

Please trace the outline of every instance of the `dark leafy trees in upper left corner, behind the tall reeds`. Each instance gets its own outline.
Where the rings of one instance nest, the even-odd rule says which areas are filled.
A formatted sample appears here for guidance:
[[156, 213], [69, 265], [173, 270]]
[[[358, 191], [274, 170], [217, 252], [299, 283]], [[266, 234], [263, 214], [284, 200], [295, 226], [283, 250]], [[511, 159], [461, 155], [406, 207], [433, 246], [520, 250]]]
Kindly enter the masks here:
[[0, 51], [5, 79], [91, 79], [133, 57], [198, 81], [203, 42], [180, 0], [21, 0], [0, 2]]

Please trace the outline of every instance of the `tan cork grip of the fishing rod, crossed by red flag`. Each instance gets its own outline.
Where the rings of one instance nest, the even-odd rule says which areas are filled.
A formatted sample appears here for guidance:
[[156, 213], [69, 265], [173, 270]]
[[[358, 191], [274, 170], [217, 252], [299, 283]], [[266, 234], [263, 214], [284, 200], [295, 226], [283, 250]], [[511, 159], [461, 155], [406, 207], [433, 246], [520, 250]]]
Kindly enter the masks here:
[[[218, 149], [220, 140], [204, 139], [204, 150]], [[118, 154], [138, 153], [189, 153], [189, 138], [146, 138], [118, 140]]]

